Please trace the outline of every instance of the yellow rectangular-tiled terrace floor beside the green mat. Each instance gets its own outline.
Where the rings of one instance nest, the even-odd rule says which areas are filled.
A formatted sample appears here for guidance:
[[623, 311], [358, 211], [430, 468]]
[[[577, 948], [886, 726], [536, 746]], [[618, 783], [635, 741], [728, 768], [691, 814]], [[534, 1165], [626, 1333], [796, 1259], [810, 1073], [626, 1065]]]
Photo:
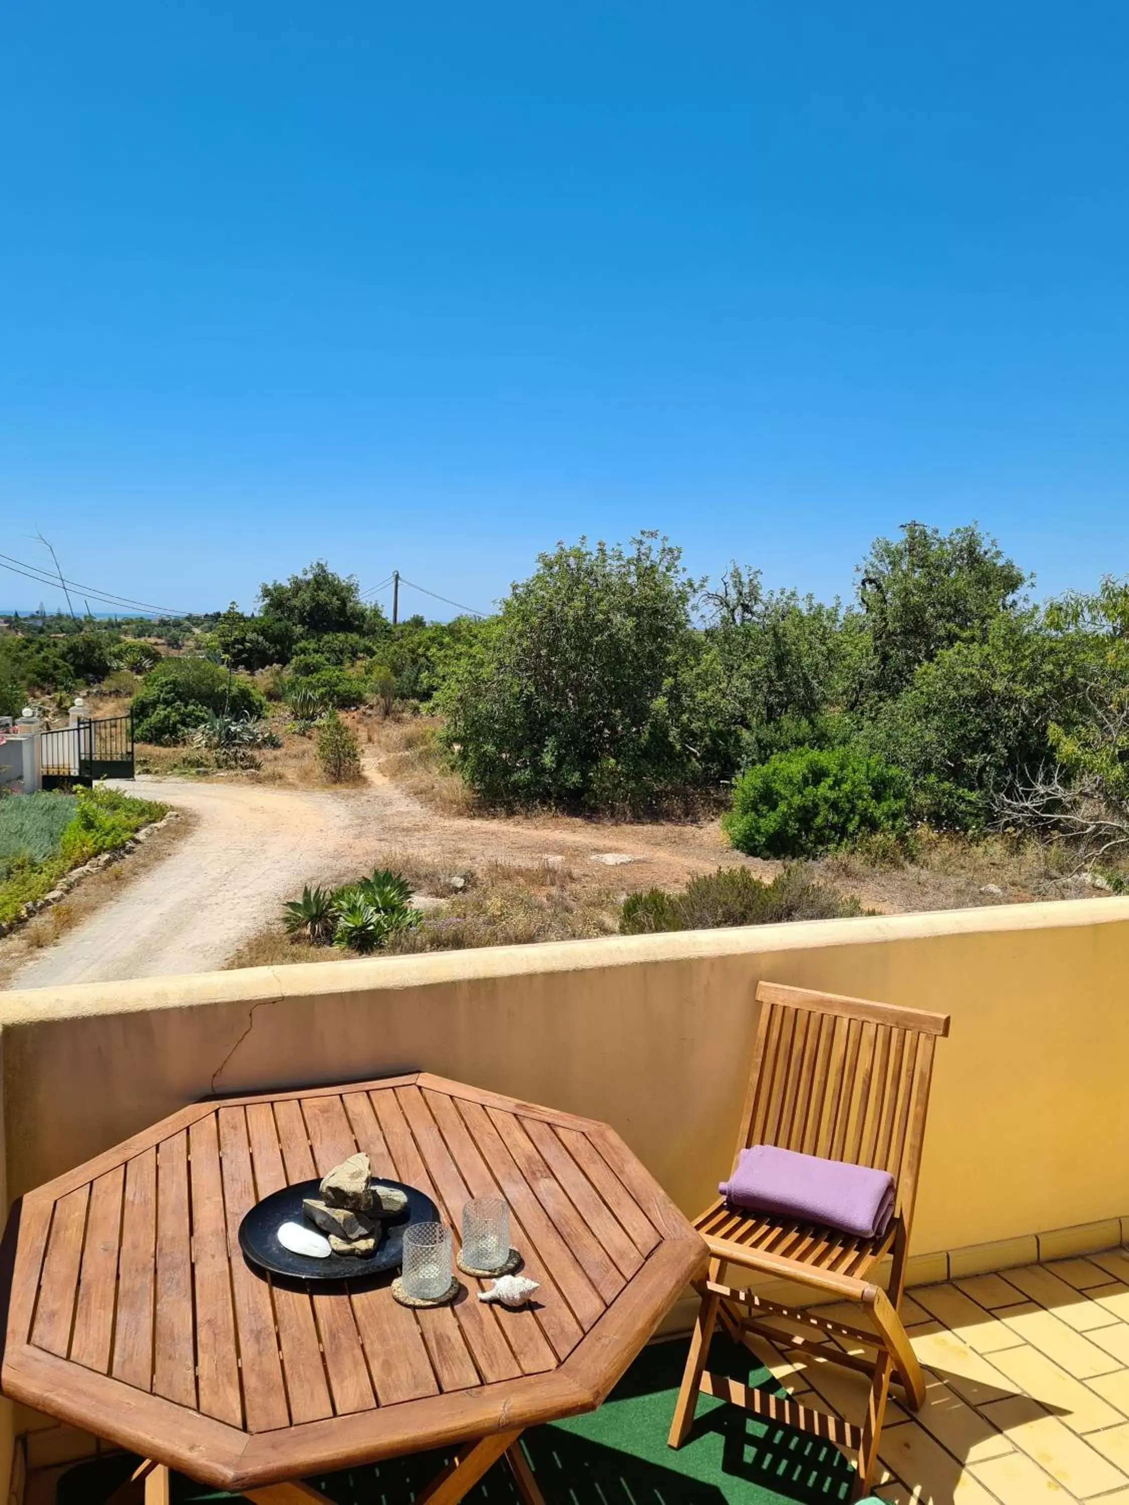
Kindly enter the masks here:
[[[823, 1308], [858, 1323], [858, 1308]], [[891, 1505], [1129, 1505], [1129, 1249], [915, 1288], [920, 1412], [887, 1410]], [[760, 1356], [807, 1404], [857, 1419], [866, 1379]]]

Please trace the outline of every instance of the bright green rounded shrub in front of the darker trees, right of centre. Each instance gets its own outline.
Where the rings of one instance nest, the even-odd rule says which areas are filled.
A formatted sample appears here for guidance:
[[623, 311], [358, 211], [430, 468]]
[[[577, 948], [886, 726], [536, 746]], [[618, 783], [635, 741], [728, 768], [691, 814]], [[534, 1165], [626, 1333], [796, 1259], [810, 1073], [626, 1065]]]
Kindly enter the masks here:
[[721, 825], [753, 856], [817, 856], [867, 831], [905, 831], [908, 799], [899, 769], [851, 746], [805, 748], [742, 774]]

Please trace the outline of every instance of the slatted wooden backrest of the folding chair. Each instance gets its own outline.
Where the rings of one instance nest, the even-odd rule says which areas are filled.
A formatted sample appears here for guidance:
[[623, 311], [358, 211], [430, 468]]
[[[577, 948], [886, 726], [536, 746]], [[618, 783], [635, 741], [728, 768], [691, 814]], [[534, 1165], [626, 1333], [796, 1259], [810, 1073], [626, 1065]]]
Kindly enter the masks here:
[[933, 1041], [948, 1034], [948, 1017], [780, 983], [762, 983], [757, 999], [738, 1153], [774, 1144], [887, 1169], [909, 1222]]

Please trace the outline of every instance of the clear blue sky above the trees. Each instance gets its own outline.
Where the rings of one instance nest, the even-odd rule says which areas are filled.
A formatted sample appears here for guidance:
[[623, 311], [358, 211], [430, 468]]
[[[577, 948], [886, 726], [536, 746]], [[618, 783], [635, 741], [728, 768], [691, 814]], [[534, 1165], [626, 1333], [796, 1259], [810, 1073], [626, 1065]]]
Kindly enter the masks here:
[[12, 0], [0, 549], [191, 608], [640, 527], [829, 596], [911, 516], [1126, 572], [1127, 60], [1124, 0]]

